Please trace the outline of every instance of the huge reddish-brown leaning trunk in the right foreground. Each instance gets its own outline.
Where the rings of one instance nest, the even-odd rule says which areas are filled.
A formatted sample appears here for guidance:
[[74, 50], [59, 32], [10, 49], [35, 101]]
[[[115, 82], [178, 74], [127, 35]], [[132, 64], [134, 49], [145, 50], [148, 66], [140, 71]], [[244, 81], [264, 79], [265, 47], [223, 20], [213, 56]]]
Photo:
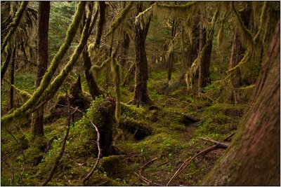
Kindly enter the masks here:
[[280, 20], [240, 129], [204, 186], [280, 186]]

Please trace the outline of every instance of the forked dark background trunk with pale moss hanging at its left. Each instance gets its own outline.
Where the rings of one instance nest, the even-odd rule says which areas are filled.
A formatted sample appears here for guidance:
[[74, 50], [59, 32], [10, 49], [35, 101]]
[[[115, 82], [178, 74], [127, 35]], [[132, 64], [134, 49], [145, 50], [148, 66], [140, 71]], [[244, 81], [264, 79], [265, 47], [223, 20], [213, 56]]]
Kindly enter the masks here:
[[198, 92], [202, 91], [202, 88], [204, 88], [208, 83], [210, 83], [209, 78], [209, 67], [210, 67], [210, 61], [211, 61], [211, 48], [212, 48], [212, 42], [213, 42], [213, 36], [214, 32], [210, 31], [209, 39], [206, 42], [207, 37], [207, 29], [204, 27], [204, 13], [201, 13], [200, 15], [200, 43], [199, 43], [199, 50], [201, 51], [205, 45], [206, 49], [204, 51], [204, 54], [202, 55], [202, 59], [199, 66], [199, 79], [198, 79]]

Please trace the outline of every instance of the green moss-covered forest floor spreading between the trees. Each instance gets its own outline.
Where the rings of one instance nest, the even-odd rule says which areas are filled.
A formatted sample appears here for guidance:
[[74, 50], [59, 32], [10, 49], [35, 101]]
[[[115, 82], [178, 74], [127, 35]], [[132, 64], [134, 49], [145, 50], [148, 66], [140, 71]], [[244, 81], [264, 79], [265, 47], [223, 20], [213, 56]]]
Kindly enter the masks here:
[[[162, 74], [152, 73], [153, 81], [148, 81], [148, 94], [153, 107], [137, 108], [122, 104], [120, 124], [123, 125], [115, 131], [115, 153], [100, 160], [98, 169], [86, 181], [86, 186], [145, 186], [147, 184], [137, 174], [145, 162], [154, 158], [157, 159], [143, 168], [143, 176], [166, 185], [186, 159], [211, 146], [210, 142], [202, 141], [200, 137], [222, 141], [235, 132], [245, 104], [235, 106], [191, 97], [184, 86], [164, 94], [159, 91], [164, 85]], [[129, 87], [122, 88], [123, 103], [133, 97], [133, 92], [129, 90]], [[192, 123], [187, 117], [197, 122]], [[82, 118], [72, 123], [65, 153], [48, 185], [83, 185], [81, 179], [91, 171], [96, 161], [95, 131], [84, 120]], [[2, 129], [1, 185], [41, 185], [60, 151], [66, 124], [66, 117], [46, 123], [45, 137], [35, 140], [31, 139], [30, 123], [14, 124], [11, 134]], [[139, 136], [138, 131], [141, 132]], [[55, 139], [51, 148], [44, 153], [44, 144], [52, 137]], [[195, 158], [170, 185], [200, 185], [223, 151], [217, 149]]]

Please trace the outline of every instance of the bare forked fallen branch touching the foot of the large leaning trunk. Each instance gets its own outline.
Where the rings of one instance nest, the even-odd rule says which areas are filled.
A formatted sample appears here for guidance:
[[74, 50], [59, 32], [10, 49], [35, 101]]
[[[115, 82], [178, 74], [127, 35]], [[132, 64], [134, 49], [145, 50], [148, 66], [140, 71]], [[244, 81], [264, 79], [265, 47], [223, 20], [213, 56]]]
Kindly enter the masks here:
[[194, 155], [192, 158], [188, 158], [186, 159], [183, 164], [181, 165], [181, 167], [178, 168], [178, 170], [176, 171], [176, 173], [174, 174], [174, 176], [171, 177], [171, 179], [169, 180], [169, 182], [166, 184], [166, 186], [169, 186], [169, 184], [171, 183], [171, 181], [178, 176], [178, 174], [181, 174], [181, 172], [183, 172], [183, 169], [185, 169], [185, 167], [188, 166], [188, 164], [194, 160], [195, 158], [197, 158], [197, 156], [202, 155], [204, 153], [209, 153], [210, 151], [214, 151], [217, 148], [228, 148], [228, 144], [226, 143], [221, 143], [218, 141], [215, 141], [214, 139], [211, 139], [209, 137], [200, 137], [200, 139], [203, 139], [205, 141], [211, 141], [212, 143], [214, 143], [214, 146], [210, 146], [208, 148], [205, 148], [204, 150], [200, 151], [199, 153], [197, 153], [196, 155]]

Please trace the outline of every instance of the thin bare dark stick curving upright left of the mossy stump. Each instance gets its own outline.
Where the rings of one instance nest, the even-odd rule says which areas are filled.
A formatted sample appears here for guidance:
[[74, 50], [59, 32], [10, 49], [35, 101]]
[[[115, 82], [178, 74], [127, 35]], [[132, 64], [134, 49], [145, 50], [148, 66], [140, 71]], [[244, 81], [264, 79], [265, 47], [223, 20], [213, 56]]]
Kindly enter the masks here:
[[58, 168], [58, 165], [60, 164], [60, 159], [63, 157], [63, 152], [65, 151], [65, 144], [66, 144], [66, 140], [68, 137], [68, 134], [70, 132], [70, 97], [66, 91], [66, 97], [67, 97], [67, 130], [66, 130], [66, 134], [65, 134], [65, 138], [63, 139], [63, 147], [60, 150], [60, 153], [58, 155], [57, 158], [55, 158], [55, 165], [53, 166], [53, 169], [51, 170], [48, 178], [46, 179], [46, 181], [44, 181], [44, 183], [42, 183], [42, 186], [46, 186], [47, 183], [49, 181], [51, 181], [53, 174], [55, 173], [55, 170]]

